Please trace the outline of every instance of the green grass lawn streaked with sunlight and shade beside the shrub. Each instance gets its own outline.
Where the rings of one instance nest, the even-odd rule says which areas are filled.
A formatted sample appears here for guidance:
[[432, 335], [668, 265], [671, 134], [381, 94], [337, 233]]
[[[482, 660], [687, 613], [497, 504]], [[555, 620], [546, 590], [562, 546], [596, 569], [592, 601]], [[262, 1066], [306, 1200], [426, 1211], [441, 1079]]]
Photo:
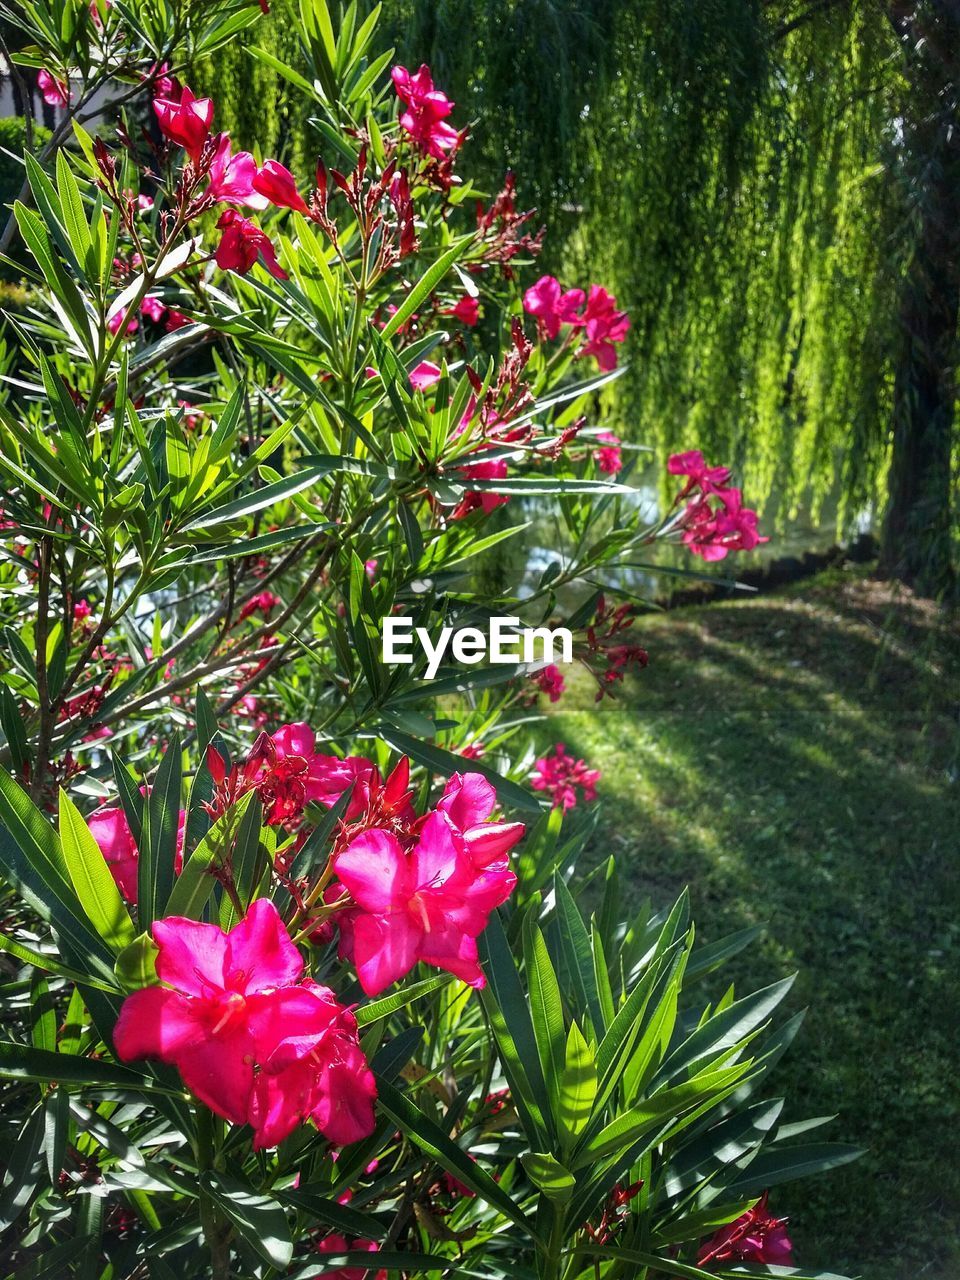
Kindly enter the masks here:
[[777, 1188], [796, 1257], [864, 1280], [960, 1275], [960, 630], [832, 571], [635, 623], [649, 668], [557, 740], [604, 771], [596, 856], [639, 902], [692, 893], [701, 941], [765, 923], [740, 993], [809, 1006], [771, 1088], [867, 1156]]

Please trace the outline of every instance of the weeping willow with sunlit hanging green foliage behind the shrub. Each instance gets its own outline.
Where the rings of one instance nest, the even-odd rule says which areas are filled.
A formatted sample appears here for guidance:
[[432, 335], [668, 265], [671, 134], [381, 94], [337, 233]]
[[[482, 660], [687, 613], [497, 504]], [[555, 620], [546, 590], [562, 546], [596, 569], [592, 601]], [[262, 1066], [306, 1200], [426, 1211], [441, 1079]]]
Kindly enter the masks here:
[[[472, 122], [471, 172], [516, 172], [545, 268], [630, 310], [626, 434], [735, 461], [768, 521], [886, 511], [887, 570], [948, 590], [960, 0], [384, 0], [383, 23]], [[241, 137], [275, 104], [310, 155], [257, 74]]]

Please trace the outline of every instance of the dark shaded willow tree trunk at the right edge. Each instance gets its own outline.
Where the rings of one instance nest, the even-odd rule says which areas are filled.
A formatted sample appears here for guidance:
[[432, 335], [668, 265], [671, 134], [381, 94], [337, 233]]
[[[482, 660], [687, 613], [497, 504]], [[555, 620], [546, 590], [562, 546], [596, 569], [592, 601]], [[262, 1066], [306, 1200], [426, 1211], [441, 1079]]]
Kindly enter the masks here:
[[893, 452], [881, 570], [924, 595], [956, 586], [951, 445], [960, 319], [960, 133], [950, 109], [960, 86], [960, 5], [913, 10], [901, 28], [911, 81], [904, 146], [916, 243], [901, 285]]

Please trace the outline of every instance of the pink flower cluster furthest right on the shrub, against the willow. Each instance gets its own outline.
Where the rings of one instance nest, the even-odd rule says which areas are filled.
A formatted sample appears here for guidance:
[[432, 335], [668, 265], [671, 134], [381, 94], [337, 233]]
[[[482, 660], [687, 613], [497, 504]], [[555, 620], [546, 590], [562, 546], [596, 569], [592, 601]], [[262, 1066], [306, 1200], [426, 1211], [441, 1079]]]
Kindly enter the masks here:
[[730, 479], [728, 467], [710, 467], [699, 449], [675, 453], [667, 462], [675, 476], [686, 476], [675, 506], [687, 502], [680, 515], [682, 540], [694, 556], [705, 561], [726, 559], [730, 552], [751, 552], [762, 538], [756, 529], [756, 512], [744, 507], [740, 489], [723, 488]]

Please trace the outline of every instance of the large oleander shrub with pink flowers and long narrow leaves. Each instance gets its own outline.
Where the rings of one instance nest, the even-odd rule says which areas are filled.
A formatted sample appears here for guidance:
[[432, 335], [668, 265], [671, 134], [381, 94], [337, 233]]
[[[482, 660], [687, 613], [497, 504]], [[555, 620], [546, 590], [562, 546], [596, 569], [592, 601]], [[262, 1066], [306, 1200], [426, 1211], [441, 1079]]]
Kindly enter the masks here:
[[755, 931], [590, 863], [556, 660], [440, 648], [566, 627], [612, 696], [631, 572], [755, 516], [699, 453], [645, 515], [600, 417], [628, 317], [538, 274], [376, 10], [303, 0], [315, 170], [234, 152], [178, 72], [259, 14], [18, 17], [68, 127], [0, 403], [4, 1274], [809, 1275], [767, 1192], [855, 1153], [769, 1092], [790, 979], [724, 989]]

